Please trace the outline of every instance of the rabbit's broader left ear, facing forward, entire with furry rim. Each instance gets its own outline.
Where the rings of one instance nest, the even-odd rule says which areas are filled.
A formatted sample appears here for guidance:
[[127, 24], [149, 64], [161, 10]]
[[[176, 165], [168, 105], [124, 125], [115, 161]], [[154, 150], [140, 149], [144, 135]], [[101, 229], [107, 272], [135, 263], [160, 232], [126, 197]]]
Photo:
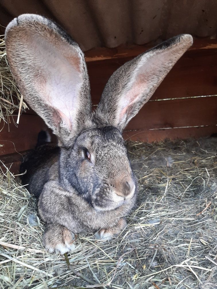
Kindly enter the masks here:
[[69, 145], [91, 119], [89, 77], [78, 44], [54, 22], [35, 14], [14, 18], [5, 43], [24, 99], [60, 142]]

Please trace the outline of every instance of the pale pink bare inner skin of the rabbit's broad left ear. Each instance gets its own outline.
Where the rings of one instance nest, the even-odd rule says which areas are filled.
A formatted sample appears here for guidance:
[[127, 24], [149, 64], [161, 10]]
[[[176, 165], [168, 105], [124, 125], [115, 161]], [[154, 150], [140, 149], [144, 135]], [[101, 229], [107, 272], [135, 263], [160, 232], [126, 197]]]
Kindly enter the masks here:
[[33, 39], [27, 43], [29, 49], [30, 44], [34, 43], [30, 51], [39, 54], [37, 58], [32, 55], [32, 85], [47, 105], [59, 111], [63, 123], [71, 127], [79, 106], [82, 85], [81, 56], [76, 48], [72, 50], [67, 42], [60, 42], [58, 38], [54, 45], [53, 39], [51, 42], [38, 35], [30, 37]]

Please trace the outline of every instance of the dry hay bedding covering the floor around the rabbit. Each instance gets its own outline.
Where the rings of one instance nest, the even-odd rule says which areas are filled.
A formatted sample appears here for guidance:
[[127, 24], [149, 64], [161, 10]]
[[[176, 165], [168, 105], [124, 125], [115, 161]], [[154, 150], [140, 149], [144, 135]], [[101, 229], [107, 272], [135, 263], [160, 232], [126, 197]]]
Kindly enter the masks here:
[[35, 199], [1, 174], [0, 288], [216, 288], [217, 138], [128, 147], [139, 196], [126, 229], [77, 236], [68, 257], [44, 251]]

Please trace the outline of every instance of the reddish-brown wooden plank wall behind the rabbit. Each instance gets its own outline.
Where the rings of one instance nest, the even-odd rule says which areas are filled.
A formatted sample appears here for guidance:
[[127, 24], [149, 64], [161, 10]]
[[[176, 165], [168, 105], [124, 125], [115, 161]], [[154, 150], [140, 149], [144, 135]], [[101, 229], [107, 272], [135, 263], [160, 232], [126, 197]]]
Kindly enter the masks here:
[[[92, 49], [86, 61], [93, 106], [111, 74], [126, 61], [149, 49], [148, 45]], [[199, 138], [217, 132], [217, 41], [196, 39], [175, 64], [156, 92], [124, 131], [125, 139], [159, 141], [165, 138]], [[16, 121], [16, 116], [15, 119]], [[19, 159], [17, 152], [34, 148], [45, 124], [32, 110], [23, 113], [19, 125], [5, 125], [0, 132], [2, 160]], [[13, 154], [13, 155], [12, 155]], [[6, 155], [6, 156], [5, 156]], [[9, 163], [9, 161], [7, 161]]]

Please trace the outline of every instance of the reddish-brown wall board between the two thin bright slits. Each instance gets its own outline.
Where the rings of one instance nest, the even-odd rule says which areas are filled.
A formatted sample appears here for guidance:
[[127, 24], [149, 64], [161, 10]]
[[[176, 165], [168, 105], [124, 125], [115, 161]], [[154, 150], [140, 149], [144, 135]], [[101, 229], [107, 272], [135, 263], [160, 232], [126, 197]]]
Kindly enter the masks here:
[[129, 129], [159, 129], [217, 124], [217, 96], [149, 101], [129, 122]]

